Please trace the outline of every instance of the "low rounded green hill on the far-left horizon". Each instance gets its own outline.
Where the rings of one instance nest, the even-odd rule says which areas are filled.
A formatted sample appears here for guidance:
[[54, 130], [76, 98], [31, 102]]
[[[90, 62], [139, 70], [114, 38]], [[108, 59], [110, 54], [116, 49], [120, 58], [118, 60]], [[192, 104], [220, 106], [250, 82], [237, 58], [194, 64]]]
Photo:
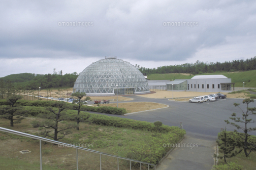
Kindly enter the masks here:
[[20, 74], [11, 74], [5, 77], [0, 77], [0, 80], [10, 80], [12, 82], [26, 82], [33, 80], [36, 77], [36, 74], [32, 73], [20, 73]]

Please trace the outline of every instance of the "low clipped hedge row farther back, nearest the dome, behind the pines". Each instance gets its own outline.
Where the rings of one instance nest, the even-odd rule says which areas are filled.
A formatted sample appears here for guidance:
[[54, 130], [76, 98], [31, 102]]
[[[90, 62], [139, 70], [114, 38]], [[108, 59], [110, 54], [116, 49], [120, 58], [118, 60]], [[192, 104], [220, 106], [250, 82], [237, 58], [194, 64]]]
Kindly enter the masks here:
[[[21, 106], [36, 106], [36, 107], [49, 107], [52, 106], [53, 103], [56, 101], [40, 101], [40, 100], [35, 100], [35, 101], [29, 101], [29, 100], [18, 100], [16, 104], [19, 104]], [[6, 100], [0, 100], [0, 105], [9, 105]], [[77, 107], [77, 104], [72, 104], [68, 103], [73, 108]], [[100, 112], [100, 113], [108, 113], [108, 114], [118, 114], [118, 115], [123, 115], [126, 112], [126, 109], [124, 108], [116, 108], [116, 107], [106, 107], [106, 106], [101, 106], [101, 107], [93, 107], [93, 106], [82, 106], [81, 110], [83, 111], [93, 111], [93, 112]]]

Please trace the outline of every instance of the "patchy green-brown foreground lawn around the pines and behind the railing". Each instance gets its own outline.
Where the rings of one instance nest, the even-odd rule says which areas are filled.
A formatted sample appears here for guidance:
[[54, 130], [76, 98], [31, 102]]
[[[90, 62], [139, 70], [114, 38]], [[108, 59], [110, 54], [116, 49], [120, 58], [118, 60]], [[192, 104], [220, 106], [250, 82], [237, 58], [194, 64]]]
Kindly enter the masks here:
[[[43, 128], [33, 128], [30, 121], [38, 117], [26, 117], [21, 123], [10, 127], [10, 120], [0, 119], [0, 126], [24, 133], [37, 135]], [[65, 124], [63, 121], [59, 126]], [[179, 130], [181, 131], [181, 130]], [[85, 148], [97, 150], [113, 155], [157, 163], [157, 156], [166, 153], [171, 148], [165, 148], [164, 143], [177, 143], [181, 137], [176, 132], [154, 133], [129, 128], [115, 128], [89, 123], [80, 123], [80, 131], [72, 129], [73, 134], [66, 136], [60, 142], [68, 144], [82, 144]], [[182, 131], [183, 132], [183, 131]], [[184, 132], [183, 132], [184, 133]], [[39, 168], [39, 141], [18, 135], [0, 132], [0, 158], [1, 167], [8, 169], [38, 169]], [[119, 146], [119, 145], [120, 146]], [[31, 153], [22, 154], [19, 151], [28, 149]], [[69, 147], [58, 147], [50, 143], [43, 143], [43, 168], [76, 169], [76, 150]], [[3, 158], [3, 159], [2, 159]], [[78, 152], [79, 168], [99, 169], [99, 154], [88, 151]], [[12, 163], [17, 160], [17, 163]], [[22, 162], [22, 163], [18, 163]], [[129, 169], [129, 161], [119, 160], [119, 169]], [[12, 164], [12, 166], [9, 166]], [[117, 169], [117, 159], [102, 156], [103, 169]], [[22, 166], [22, 167], [21, 167]], [[135, 166], [133, 164], [133, 166]], [[9, 168], [10, 167], [10, 168]], [[28, 168], [29, 167], [29, 168]], [[137, 166], [133, 169], [139, 169]], [[147, 169], [143, 166], [142, 169]]]

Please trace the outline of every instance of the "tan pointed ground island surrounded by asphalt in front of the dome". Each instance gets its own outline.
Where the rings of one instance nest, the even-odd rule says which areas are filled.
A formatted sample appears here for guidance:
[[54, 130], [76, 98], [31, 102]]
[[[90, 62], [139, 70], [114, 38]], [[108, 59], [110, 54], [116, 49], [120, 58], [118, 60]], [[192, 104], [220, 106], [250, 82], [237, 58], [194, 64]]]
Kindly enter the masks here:
[[[116, 107], [116, 103], [101, 104], [101, 106]], [[118, 103], [118, 108], [125, 108], [128, 113], [139, 112], [144, 110], [152, 110], [152, 109], [158, 109], [158, 108], [164, 108], [164, 107], [167, 107], [167, 105], [161, 104], [161, 103], [154, 103], [154, 102]]]

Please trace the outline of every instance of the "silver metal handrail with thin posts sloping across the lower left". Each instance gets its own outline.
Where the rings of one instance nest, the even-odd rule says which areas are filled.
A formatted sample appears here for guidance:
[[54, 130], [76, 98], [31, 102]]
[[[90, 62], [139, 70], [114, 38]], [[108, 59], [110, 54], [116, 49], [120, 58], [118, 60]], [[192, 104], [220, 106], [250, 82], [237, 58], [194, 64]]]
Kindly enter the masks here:
[[154, 169], [156, 167], [155, 164], [146, 163], [146, 162], [142, 162], [142, 161], [138, 161], [138, 160], [133, 160], [133, 159], [129, 159], [129, 158], [121, 157], [121, 156], [115, 156], [115, 155], [111, 155], [111, 154], [107, 154], [107, 153], [103, 153], [103, 152], [99, 152], [99, 151], [94, 151], [94, 150], [91, 150], [91, 149], [87, 149], [87, 148], [83, 148], [83, 147], [79, 147], [79, 146], [75, 146], [75, 145], [70, 145], [70, 144], [54, 141], [54, 140], [51, 140], [51, 139], [26, 134], [26, 133], [23, 133], [23, 132], [13, 131], [13, 130], [9, 130], [9, 129], [6, 129], [6, 128], [1, 128], [0, 127], [0, 131], [39, 140], [39, 143], [40, 143], [40, 169], [41, 170], [43, 169], [43, 167], [42, 167], [42, 141], [50, 142], [50, 143], [58, 144], [58, 145], [69, 145], [69, 147], [71, 147], [71, 148], [76, 148], [76, 166], [77, 166], [77, 170], [78, 170], [78, 149], [100, 154], [100, 169], [101, 170], [102, 170], [102, 155], [117, 158], [117, 170], [119, 170], [119, 159], [130, 160], [130, 170], [132, 169], [132, 163], [131, 163], [132, 161], [140, 163], [140, 169], [141, 169], [141, 164], [147, 164], [148, 169], [149, 169], [149, 165], [154, 166]]

